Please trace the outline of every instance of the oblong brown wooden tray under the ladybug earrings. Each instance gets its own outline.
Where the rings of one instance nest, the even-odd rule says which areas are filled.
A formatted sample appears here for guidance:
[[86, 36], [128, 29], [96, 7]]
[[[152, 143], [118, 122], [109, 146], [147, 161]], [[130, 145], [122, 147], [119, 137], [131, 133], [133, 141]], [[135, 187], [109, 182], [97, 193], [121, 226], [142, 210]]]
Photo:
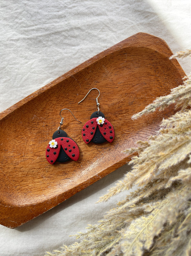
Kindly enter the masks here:
[[[58, 205], [78, 191], [124, 165], [131, 156], [121, 153], [155, 133], [164, 112], [131, 120], [131, 116], [175, 86], [185, 76], [166, 42], [138, 33], [112, 46], [39, 89], [0, 114], [0, 224], [15, 228]], [[115, 129], [112, 143], [88, 144], [81, 129], [96, 111]], [[80, 149], [77, 162], [50, 165], [46, 147], [59, 126], [59, 111], [70, 109], [78, 123], [64, 112], [62, 129]]]

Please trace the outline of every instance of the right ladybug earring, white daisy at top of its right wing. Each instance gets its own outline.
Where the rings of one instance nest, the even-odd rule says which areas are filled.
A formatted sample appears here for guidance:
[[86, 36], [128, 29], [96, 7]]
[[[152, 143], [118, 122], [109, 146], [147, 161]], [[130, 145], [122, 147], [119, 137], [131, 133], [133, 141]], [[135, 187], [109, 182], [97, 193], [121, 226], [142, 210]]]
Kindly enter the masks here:
[[[93, 89], [98, 90], [97, 88], [92, 88], [91, 90]], [[86, 94], [86, 96], [90, 93], [90, 91]], [[84, 100], [86, 96], [82, 100]], [[97, 98], [99, 96], [100, 96], [100, 91]], [[87, 121], [82, 128], [82, 139], [86, 144], [90, 142], [93, 142], [96, 144], [104, 143], [106, 141], [113, 142], [114, 136], [115, 136], [113, 126], [107, 119], [105, 119], [104, 113], [102, 113], [99, 109], [100, 104], [97, 98], [96, 98], [97, 111], [91, 114], [90, 120]], [[82, 102], [82, 100], [80, 102]], [[78, 102], [78, 104], [80, 102]]]

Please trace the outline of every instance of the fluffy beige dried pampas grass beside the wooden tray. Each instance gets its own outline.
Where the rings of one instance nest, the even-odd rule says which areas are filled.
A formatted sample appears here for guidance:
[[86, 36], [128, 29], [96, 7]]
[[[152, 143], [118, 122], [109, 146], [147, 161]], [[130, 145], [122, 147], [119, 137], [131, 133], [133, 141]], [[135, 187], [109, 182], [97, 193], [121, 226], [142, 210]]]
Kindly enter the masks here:
[[[181, 51], [171, 58], [191, 56]], [[79, 233], [81, 242], [64, 246], [56, 256], [191, 255], [191, 78], [157, 98], [136, 119], [175, 103], [180, 110], [164, 119], [157, 135], [138, 142], [131, 172], [100, 198], [105, 201], [137, 184], [139, 189], [110, 210], [98, 225]]]

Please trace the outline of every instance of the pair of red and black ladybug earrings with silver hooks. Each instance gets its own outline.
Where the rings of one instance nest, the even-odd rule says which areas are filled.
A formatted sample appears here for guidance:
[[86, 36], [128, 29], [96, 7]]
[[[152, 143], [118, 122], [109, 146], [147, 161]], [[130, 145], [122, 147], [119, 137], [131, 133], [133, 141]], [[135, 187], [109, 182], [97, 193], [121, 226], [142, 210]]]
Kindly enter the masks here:
[[[92, 88], [91, 90], [93, 89], [98, 90], [97, 88]], [[90, 93], [90, 91], [86, 94], [86, 96]], [[82, 102], [86, 98], [86, 96], [80, 102]], [[100, 105], [98, 102], [99, 96], [100, 96], [100, 91], [99, 91], [99, 95], [96, 98], [97, 111], [91, 114], [90, 120], [87, 121], [82, 128], [82, 139], [86, 144], [90, 142], [100, 144], [106, 141], [111, 143], [114, 140], [114, 136], [115, 136], [114, 128], [111, 125], [111, 123], [105, 119], [104, 113], [102, 113], [99, 109], [99, 105]], [[78, 104], [80, 102], [78, 102]], [[64, 108], [60, 111], [60, 116], [63, 110], [70, 111], [70, 109]], [[71, 114], [76, 119], [76, 117], [73, 115], [72, 112]], [[51, 164], [53, 164], [56, 161], [58, 162], [67, 162], [70, 160], [77, 161], [80, 155], [79, 148], [76, 142], [73, 139], [69, 138], [65, 131], [61, 130], [61, 125], [63, 125], [63, 120], [64, 118], [61, 116], [60, 126], [58, 127], [57, 131], [54, 132], [52, 136], [52, 140], [49, 142], [46, 149], [46, 158], [47, 158], [47, 161]], [[76, 121], [82, 123], [77, 119]]]

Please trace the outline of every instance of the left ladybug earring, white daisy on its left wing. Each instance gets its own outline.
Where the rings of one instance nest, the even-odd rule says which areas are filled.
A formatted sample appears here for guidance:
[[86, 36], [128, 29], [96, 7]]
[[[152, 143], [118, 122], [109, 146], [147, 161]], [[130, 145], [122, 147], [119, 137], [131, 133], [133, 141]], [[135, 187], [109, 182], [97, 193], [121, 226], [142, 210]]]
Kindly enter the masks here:
[[[63, 110], [70, 111], [70, 109], [64, 108], [60, 111], [60, 116]], [[71, 111], [70, 113], [72, 114]], [[76, 119], [74, 115], [73, 117]], [[52, 140], [48, 143], [46, 149], [46, 158], [47, 161], [51, 164], [53, 164], [56, 161], [67, 162], [70, 161], [71, 159], [77, 161], [80, 154], [76, 142], [69, 138], [65, 131], [61, 130], [63, 120], [64, 118], [61, 116], [60, 126], [58, 127], [57, 131], [55, 131], [55, 133], [52, 135]], [[78, 120], [76, 119], [76, 121]]]

